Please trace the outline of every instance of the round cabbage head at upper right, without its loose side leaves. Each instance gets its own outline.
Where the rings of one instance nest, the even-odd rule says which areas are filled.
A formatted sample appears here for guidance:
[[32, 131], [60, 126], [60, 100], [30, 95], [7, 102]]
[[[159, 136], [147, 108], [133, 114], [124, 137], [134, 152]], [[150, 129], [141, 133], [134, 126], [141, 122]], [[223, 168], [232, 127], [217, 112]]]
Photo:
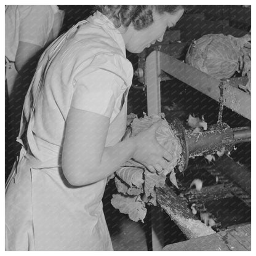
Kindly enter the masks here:
[[239, 70], [239, 47], [223, 34], [206, 34], [190, 45], [186, 63], [214, 78], [231, 78]]

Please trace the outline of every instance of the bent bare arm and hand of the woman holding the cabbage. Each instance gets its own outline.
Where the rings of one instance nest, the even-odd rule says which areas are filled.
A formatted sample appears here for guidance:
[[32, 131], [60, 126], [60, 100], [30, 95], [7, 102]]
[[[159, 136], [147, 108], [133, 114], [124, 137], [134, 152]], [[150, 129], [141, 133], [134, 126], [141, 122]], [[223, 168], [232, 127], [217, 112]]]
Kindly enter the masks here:
[[71, 185], [81, 186], [108, 177], [130, 158], [145, 165], [166, 165], [171, 155], [156, 141], [156, 124], [134, 138], [105, 147], [110, 118], [71, 108], [62, 154], [63, 173]]

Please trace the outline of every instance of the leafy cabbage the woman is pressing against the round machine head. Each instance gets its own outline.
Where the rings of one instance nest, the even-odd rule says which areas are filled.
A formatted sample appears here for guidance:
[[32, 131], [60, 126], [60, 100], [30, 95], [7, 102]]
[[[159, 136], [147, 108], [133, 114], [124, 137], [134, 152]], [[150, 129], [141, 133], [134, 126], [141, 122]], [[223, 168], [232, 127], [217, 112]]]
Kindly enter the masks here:
[[130, 159], [115, 173], [114, 181], [118, 194], [113, 194], [111, 204], [123, 214], [128, 214], [135, 222], [138, 220], [143, 222], [146, 216], [146, 204], [156, 206], [155, 188], [165, 185], [167, 174], [170, 174], [170, 181], [177, 186], [174, 167], [180, 161], [182, 146], [166, 119], [159, 116], [134, 118], [129, 135], [134, 137], [159, 120], [162, 120], [162, 124], [156, 131], [156, 139], [173, 156], [167, 168], [160, 173], [152, 173], [139, 162]]

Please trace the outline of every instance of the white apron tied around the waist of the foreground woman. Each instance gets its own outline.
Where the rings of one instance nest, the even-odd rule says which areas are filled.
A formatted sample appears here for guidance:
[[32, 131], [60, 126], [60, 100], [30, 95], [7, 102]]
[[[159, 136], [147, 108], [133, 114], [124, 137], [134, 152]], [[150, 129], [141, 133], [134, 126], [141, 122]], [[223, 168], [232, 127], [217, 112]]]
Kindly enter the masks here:
[[[49, 46], [49, 62], [81, 23], [84, 21]], [[48, 61], [46, 58], [38, 66], [41, 74]], [[41, 78], [34, 76], [31, 85], [36, 83], [39, 87]], [[22, 141], [25, 130], [29, 147], [36, 146], [31, 129], [36, 98], [31, 108], [30, 90], [31, 86], [23, 106], [23, 113], [30, 110], [28, 126], [22, 115], [17, 138], [22, 150], [6, 184], [6, 250], [113, 250], [102, 209], [106, 179], [87, 186], [71, 186], [63, 177], [60, 157], [41, 162], [26, 149]], [[113, 140], [124, 134], [126, 108], [124, 104], [110, 125], [119, 127], [110, 135]]]

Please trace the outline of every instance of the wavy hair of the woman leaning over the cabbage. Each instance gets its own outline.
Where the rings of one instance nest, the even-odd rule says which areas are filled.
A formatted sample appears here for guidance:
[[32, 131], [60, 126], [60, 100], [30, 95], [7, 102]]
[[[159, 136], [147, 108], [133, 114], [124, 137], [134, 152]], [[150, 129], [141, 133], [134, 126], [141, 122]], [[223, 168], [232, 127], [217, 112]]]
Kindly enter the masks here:
[[183, 6], [95, 6], [106, 17], [113, 20], [114, 26], [127, 27], [132, 23], [135, 30], [142, 30], [153, 23], [152, 10], [158, 14], [167, 12], [174, 14], [177, 10], [184, 9]]

